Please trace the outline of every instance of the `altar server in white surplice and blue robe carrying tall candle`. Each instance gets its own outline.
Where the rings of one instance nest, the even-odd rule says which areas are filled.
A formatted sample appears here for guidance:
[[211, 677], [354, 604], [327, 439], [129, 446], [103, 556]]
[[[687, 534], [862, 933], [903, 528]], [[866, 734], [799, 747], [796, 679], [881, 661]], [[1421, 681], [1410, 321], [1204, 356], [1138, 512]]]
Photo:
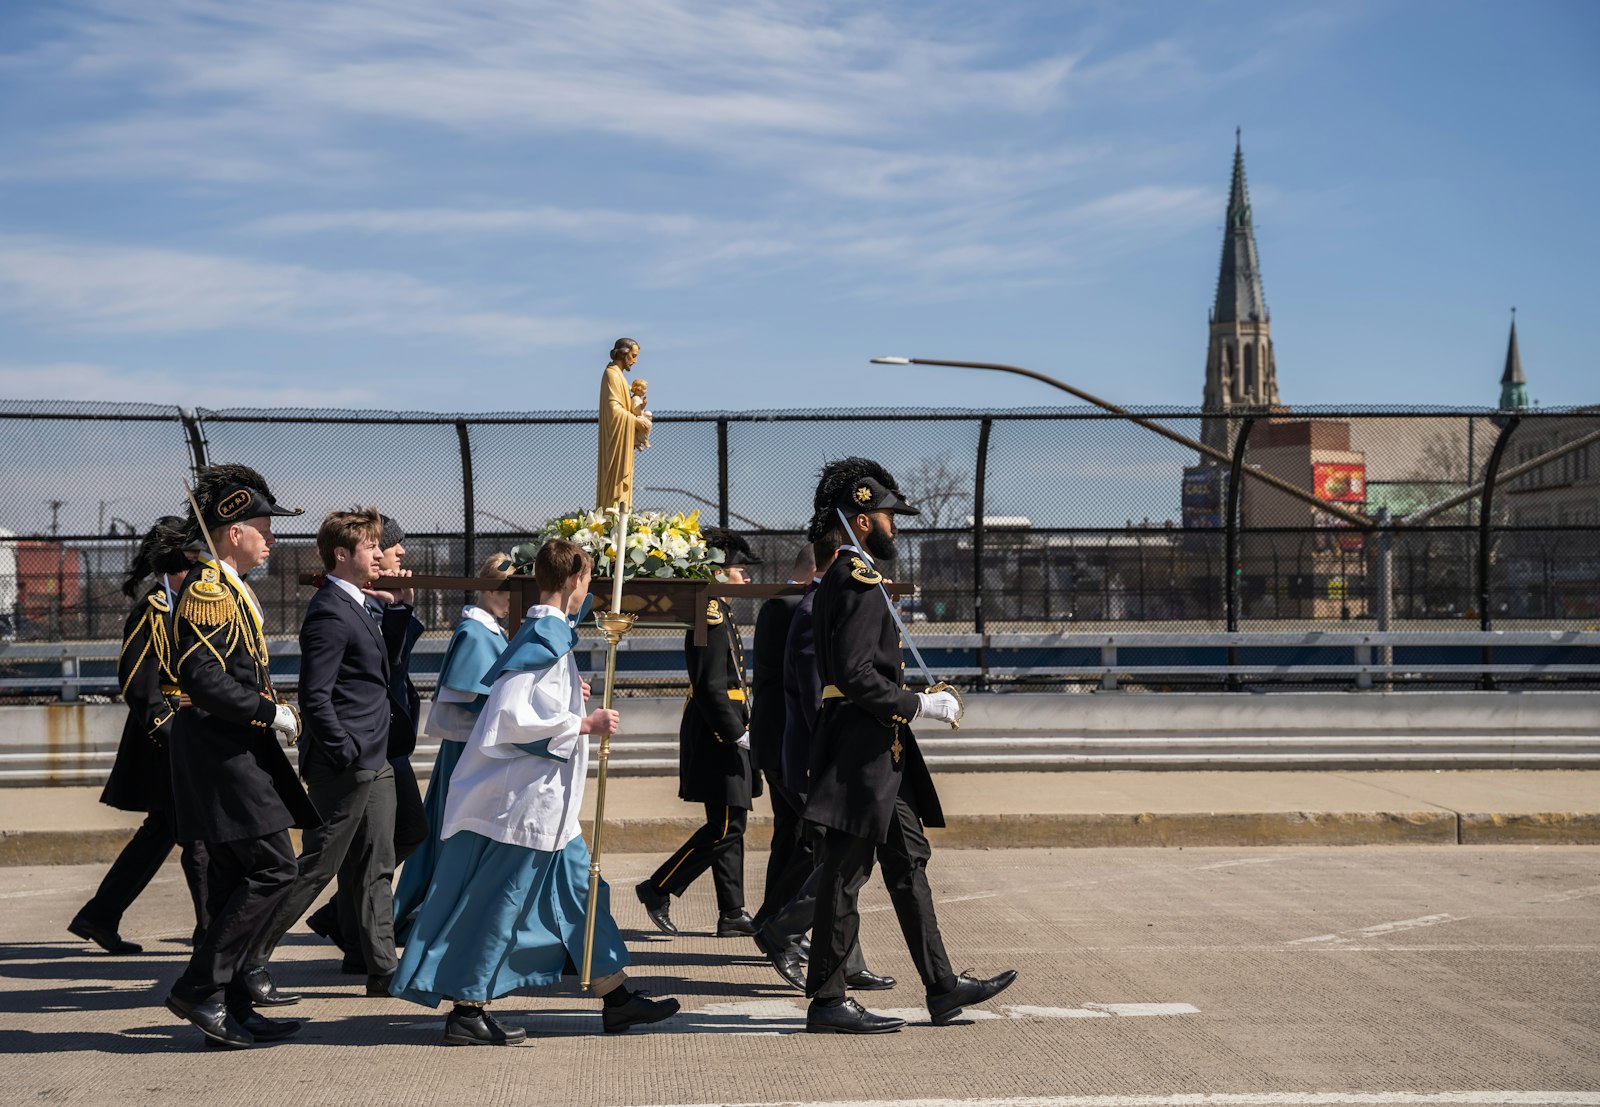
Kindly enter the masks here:
[[[555, 984], [584, 955], [589, 846], [578, 822], [589, 773], [586, 734], [616, 733], [619, 715], [584, 713], [573, 646], [587, 609], [590, 558], [550, 539], [534, 561], [539, 603], [494, 661], [490, 697], [450, 777], [438, 861], [390, 990], [454, 1003], [446, 1045], [520, 1045], [526, 1030], [496, 1021], [490, 1000]], [[677, 1000], [629, 989], [627, 947], [602, 883], [590, 990], [608, 1033], [659, 1022]]]

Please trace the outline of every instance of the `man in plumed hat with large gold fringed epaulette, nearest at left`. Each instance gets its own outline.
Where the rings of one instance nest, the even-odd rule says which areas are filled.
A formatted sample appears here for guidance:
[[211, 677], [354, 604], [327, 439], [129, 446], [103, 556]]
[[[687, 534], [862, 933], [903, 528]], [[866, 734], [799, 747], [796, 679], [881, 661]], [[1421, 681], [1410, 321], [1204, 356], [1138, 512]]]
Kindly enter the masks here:
[[322, 822], [278, 744], [299, 734], [299, 720], [277, 702], [261, 605], [245, 584], [272, 549], [272, 517], [301, 512], [278, 507], [246, 466], [203, 470], [195, 504], [198, 563], [174, 619], [189, 705], [173, 720], [173, 819], [179, 840], [205, 841], [210, 921], [166, 1006], [208, 1041], [242, 1048], [301, 1027], [258, 1014], [243, 981], [251, 941], [294, 883], [290, 827]]

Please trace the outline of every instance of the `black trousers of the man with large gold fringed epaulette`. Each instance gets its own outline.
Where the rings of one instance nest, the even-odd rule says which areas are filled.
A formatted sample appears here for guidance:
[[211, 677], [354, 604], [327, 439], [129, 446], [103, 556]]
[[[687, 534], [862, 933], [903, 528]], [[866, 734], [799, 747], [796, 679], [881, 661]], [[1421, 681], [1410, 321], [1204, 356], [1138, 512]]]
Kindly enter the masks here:
[[278, 830], [261, 838], [208, 841], [205, 848], [211, 920], [173, 992], [205, 1003], [221, 990], [229, 1006], [250, 1006], [237, 977], [261, 928], [294, 886], [294, 843], [288, 830]]

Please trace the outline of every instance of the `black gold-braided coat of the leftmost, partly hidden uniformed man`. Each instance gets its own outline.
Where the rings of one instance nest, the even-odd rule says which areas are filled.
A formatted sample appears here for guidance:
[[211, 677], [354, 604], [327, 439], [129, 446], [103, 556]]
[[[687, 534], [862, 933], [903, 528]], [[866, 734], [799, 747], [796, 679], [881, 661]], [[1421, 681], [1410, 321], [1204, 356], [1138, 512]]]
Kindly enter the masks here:
[[122, 627], [117, 685], [128, 704], [117, 760], [101, 792], [101, 803], [120, 811], [171, 811], [173, 769], [166, 744], [178, 713], [178, 677], [173, 672], [173, 605], [166, 587], [146, 592]]

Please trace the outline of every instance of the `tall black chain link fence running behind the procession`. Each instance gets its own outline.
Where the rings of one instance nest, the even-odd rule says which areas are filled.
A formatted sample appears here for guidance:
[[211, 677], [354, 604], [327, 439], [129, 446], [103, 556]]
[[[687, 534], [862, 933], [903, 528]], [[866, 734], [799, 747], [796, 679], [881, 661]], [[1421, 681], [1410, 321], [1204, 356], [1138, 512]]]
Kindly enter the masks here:
[[[1195, 440], [1216, 419], [1136, 414]], [[664, 411], [637, 458], [635, 509], [741, 530], [766, 560], [757, 579], [781, 581], [821, 466], [870, 456], [923, 509], [902, 520], [893, 576], [917, 585], [904, 614], [933, 635], [1581, 630], [1600, 624], [1600, 442], [1584, 443], [1597, 432], [1600, 408], [1245, 413], [1226, 421], [1224, 466], [1094, 408]], [[376, 504], [405, 528], [408, 568], [470, 574], [590, 506], [595, 422], [0, 403], [0, 638], [115, 638], [138, 538], [181, 514], [179, 480], [214, 461], [259, 469], [278, 502], [306, 509], [278, 520], [254, 577], [269, 633], [293, 635], [325, 512]], [[1350, 526], [1251, 469], [1386, 525]], [[418, 606], [445, 632], [459, 603]], [[1016, 651], [1030, 656], [1043, 654]]]

